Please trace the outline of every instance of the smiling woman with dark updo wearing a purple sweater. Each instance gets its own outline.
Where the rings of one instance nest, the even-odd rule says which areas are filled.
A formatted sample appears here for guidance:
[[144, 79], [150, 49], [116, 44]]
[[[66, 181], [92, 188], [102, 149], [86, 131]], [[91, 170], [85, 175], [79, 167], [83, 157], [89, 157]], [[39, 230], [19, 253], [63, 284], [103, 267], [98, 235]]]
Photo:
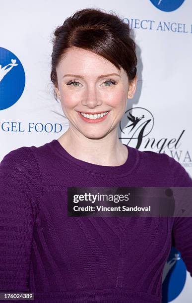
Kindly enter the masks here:
[[53, 43], [51, 79], [69, 128], [1, 161], [0, 291], [34, 292], [35, 302], [161, 302], [173, 244], [192, 275], [192, 218], [67, 216], [69, 187], [192, 187], [173, 158], [119, 141], [137, 81], [128, 24], [82, 9]]

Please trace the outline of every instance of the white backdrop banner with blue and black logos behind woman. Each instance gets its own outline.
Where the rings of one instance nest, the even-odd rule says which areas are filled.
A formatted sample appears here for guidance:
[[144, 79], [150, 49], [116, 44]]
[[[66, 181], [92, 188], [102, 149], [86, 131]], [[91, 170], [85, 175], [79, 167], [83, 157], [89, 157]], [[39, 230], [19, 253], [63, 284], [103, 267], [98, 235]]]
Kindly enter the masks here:
[[[50, 80], [53, 31], [78, 9], [114, 11], [137, 44], [137, 90], [119, 138], [140, 151], [166, 153], [192, 176], [191, 0], [1, 0], [0, 160], [21, 146], [40, 146], [68, 128]], [[192, 302], [192, 278], [172, 248], [164, 302]]]

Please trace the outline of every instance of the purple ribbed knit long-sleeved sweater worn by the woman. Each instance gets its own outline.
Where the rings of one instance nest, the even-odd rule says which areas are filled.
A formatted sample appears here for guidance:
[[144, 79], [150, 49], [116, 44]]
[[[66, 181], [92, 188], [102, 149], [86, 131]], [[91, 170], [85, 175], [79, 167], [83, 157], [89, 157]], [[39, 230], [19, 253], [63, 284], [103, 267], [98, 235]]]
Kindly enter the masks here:
[[192, 217], [67, 216], [67, 187], [192, 187], [167, 154], [128, 152], [123, 165], [102, 166], [53, 140], [3, 157], [0, 292], [34, 292], [45, 303], [160, 303], [173, 244], [192, 276]]

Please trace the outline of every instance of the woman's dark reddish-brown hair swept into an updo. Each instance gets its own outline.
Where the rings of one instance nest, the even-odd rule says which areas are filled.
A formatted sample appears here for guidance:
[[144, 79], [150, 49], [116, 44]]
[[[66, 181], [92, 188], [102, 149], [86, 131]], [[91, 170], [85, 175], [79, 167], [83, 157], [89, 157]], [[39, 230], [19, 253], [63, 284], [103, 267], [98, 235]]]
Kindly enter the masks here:
[[[128, 80], [136, 75], [136, 44], [130, 28], [116, 13], [85, 8], [76, 11], [54, 31], [51, 81], [58, 87], [56, 67], [71, 47], [90, 50], [106, 58], [119, 70], [126, 71]], [[56, 91], [54, 91], [57, 100]]]

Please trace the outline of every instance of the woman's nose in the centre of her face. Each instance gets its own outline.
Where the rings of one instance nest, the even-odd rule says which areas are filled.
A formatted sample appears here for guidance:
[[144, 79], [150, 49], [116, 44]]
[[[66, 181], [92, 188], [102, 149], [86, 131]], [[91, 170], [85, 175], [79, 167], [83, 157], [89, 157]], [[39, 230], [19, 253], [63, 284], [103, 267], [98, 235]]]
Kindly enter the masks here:
[[95, 106], [102, 104], [99, 92], [97, 91], [94, 84], [87, 86], [82, 104], [89, 108], [94, 108]]

